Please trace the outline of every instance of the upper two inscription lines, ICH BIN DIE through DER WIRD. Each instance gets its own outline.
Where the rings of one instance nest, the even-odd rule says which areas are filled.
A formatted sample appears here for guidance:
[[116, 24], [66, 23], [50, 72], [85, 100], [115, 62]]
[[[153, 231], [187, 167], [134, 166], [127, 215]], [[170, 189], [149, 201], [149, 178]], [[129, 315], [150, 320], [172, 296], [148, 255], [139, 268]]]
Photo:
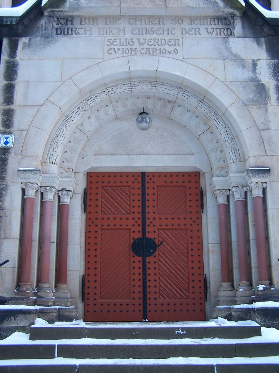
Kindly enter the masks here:
[[57, 36], [232, 37], [233, 17], [54, 17]]

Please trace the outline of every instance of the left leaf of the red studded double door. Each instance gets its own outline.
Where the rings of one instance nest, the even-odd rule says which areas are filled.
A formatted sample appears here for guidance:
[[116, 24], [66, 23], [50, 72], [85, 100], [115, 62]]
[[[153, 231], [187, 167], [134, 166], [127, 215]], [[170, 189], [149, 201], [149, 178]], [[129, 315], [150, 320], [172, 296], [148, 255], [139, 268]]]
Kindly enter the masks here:
[[140, 173], [88, 173], [85, 321], [142, 320]]

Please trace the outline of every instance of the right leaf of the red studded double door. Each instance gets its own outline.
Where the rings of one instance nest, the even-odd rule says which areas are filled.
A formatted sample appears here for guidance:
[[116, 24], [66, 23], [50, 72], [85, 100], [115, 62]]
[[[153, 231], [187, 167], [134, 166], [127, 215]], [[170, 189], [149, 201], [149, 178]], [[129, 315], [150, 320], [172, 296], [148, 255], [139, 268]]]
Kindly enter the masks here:
[[198, 172], [146, 173], [148, 320], [205, 320]]

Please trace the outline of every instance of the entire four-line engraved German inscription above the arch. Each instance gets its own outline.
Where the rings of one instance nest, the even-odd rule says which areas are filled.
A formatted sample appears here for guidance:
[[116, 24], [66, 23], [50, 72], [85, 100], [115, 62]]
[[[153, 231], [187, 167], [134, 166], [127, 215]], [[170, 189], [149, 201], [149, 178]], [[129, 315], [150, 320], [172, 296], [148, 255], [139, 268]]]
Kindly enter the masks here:
[[185, 37], [234, 37], [234, 17], [53, 17], [57, 37], [104, 37], [104, 58], [126, 55], [183, 59]]

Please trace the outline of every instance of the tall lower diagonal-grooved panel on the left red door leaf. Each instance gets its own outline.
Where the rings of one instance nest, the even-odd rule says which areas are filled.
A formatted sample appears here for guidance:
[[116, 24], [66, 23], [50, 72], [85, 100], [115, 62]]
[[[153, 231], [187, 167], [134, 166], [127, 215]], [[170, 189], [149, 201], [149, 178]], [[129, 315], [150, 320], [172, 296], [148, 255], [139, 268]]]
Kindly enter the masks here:
[[101, 299], [130, 299], [130, 230], [101, 231]]

